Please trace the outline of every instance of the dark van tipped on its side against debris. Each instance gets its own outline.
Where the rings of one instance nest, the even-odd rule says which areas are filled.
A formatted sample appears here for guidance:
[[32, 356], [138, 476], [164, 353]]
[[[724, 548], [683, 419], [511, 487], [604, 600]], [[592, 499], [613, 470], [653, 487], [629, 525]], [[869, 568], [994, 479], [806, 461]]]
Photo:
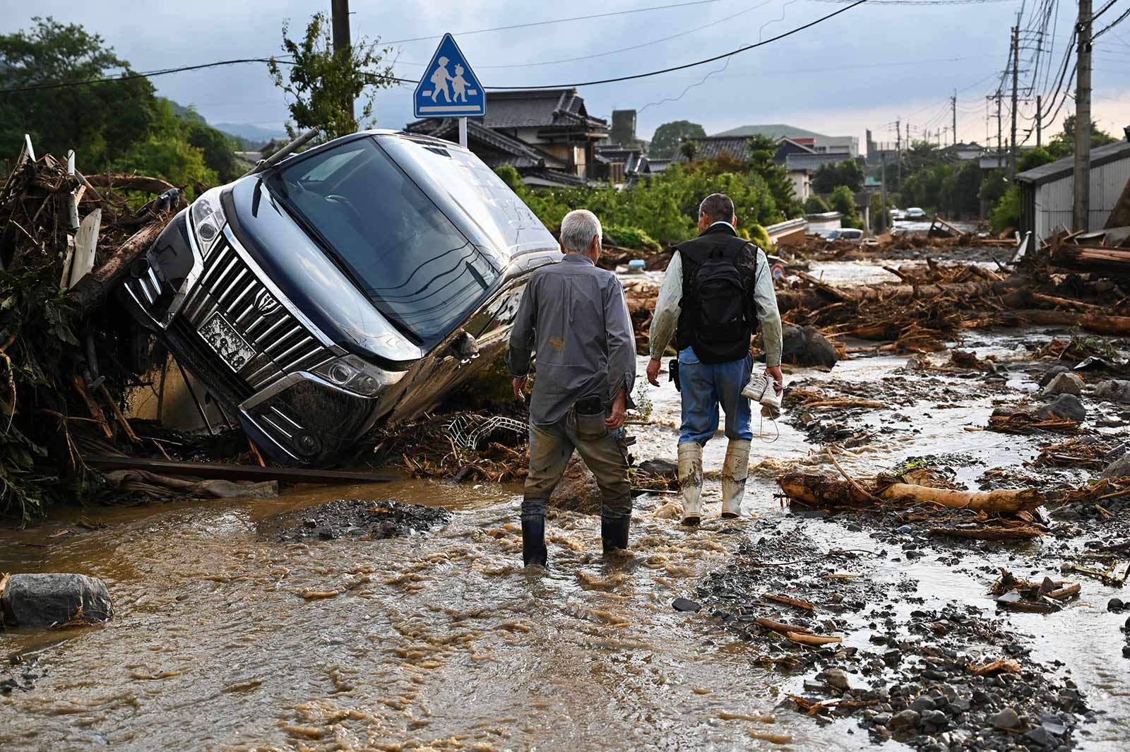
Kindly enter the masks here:
[[272, 458], [320, 465], [505, 347], [530, 273], [559, 257], [470, 151], [364, 131], [202, 194], [124, 292]]

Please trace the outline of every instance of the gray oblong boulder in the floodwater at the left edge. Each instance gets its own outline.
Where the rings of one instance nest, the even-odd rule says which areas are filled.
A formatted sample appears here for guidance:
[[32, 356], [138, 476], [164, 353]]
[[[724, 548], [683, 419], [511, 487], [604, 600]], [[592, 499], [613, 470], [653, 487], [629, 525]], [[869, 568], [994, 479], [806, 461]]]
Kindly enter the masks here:
[[106, 584], [86, 575], [12, 575], [0, 606], [5, 624], [20, 629], [99, 622], [114, 615]]

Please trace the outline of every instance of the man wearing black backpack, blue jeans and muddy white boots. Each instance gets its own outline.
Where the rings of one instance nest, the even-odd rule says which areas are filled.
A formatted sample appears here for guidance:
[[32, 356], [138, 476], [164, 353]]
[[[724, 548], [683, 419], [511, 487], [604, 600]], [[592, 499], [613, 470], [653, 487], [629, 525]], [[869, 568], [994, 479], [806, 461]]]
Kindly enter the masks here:
[[[672, 381], [683, 394], [679, 434], [679, 488], [683, 524], [702, 518], [703, 445], [718, 431], [718, 409], [725, 412], [722, 516], [741, 515], [749, 467], [749, 394], [754, 359], [750, 338], [760, 323], [765, 343], [766, 390], [762, 404], [780, 405], [781, 314], [765, 252], [737, 233], [733, 201], [712, 193], [698, 207], [698, 237], [671, 256], [651, 323], [647, 381], [659, 386], [660, 359], [672, 333], [679, 353]], [[757, 379], [755, 378], [754, 382]], [[747, 386], [748, 383], [748, 386]]]

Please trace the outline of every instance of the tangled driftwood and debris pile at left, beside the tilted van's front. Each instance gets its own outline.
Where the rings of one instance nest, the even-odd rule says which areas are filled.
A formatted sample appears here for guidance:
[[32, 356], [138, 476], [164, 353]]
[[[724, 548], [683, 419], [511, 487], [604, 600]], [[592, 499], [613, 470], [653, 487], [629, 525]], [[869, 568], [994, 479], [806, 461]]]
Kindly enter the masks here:
[[122, 408], [149, 343], [110, 294], [183, 199], [156, 178], [85, 177], [73, 155], [35, 159], [29, 142], [15, 165], [0, 187], [0, 515], [26, 518], [105, 488], [84, 437], [137, 438]]

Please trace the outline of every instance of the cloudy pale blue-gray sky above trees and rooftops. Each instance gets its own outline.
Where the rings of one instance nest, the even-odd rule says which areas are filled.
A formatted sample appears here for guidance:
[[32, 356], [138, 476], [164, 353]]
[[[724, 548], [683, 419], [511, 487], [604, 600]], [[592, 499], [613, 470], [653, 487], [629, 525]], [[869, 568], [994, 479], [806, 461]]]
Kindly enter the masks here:
[[[686, 2], [353, 0], [351, 33], [355, 40], [380, 36], [394, 42], [450, 30], [487, 88], [539, 86], [694, 62], [802, 26], [843, 7], [817, 0], [712, 0], [607, 18], [468, 33]], [[1077, 6], [1061, 5], [1054, 52], [1041, 65], [1058, 65], [1062, 60], [1062, 45]], [[1123, 6], [1130, 8], [1130, 0], [1118, 0], [1116, 5], [1115, 11]], [[950, 123], [949, 96], [957, 89], [960, 139], [984, 142], [986, 124], [996, 138], [996, 117], [986, 123], [985, 95], [996, 90], [1006, 65], [1009, 27], [1019, 8], [1019, 0], [949, 6], [880, 5], [872, 0], [788, 38], [729, 58], [728, 62], [584, 86], [581, 94], [593, 115], [608, 117], [614, 107], [638, 110], [638, 134], [643, 138], [650, 138], [657, 125], [671, 120], [699, 122], [707, 133], [749, 123], [789, 123], [832, 135], [858, 135], [862, 148], [868, 128], [876, 139], [893, 140], [896, 117], [911, 123], [914, 138], [920, 138], [924, 128], [933, 138], [936, 129]], [[312, 14], [329, 11], [330, 2], [0, 0], [0, 32], [28, 27], [33, 15], [53, 16], [101, 34], [136, 70], [151, 70], [278, 53], [285, 19], [290, 19], [294, 36]], [[1110, 16], [1116, 16], [1115, 11]], [[659, 41], [664, 37], [673, 38]], [[397, 75], [418, 78], [436, 43], [431, 38], [393, 44]], [[555, 62], [563, 59], [579, 60]], [[719, 72], [706, 77], [711, 71]], [[1106, 34], [1095, 53], [1094, 116], [1105, 130], [1120, 135], [1122, 128], [1130, 125], [1128, 71], [1130, 21]], [[287, 116], [286, 102], [262, 64], [182, 72], [153, 80], [159, 94], [194, 105], [212, 123], [279, 128]], [[1020, 108], [1028, 116], [1033, 110]], [[1060, 116], [1072, 110], [1069, 99]], [[379, 93], [375, 114], [382, 128], [400, 128], [410, 121], [411, 87]], [[1007, 138], [1007, 113], [1005, 122]], [[1020, 122], [1023, 135], [1031, 123]], [[1058, 123], [1057, 129], [1045, 128], [1058, 130]]]

